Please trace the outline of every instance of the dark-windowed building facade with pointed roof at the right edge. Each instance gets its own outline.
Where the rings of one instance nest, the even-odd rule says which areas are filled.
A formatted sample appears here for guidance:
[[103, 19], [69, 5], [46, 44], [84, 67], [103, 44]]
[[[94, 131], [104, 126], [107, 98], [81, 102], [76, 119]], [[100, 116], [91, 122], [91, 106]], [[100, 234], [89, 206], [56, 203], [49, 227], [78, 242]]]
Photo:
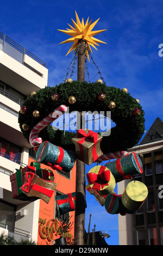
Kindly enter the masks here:
[[[128, 150], [140, 156], [143, 173], [135, 180], [148, 188], [148, 197], [135, 214], [118, 216], [120, 245], [163, 244], [163, 122], [156, 118], [140, 145]], [[118, 184], [122, 194], [130, 180]]]

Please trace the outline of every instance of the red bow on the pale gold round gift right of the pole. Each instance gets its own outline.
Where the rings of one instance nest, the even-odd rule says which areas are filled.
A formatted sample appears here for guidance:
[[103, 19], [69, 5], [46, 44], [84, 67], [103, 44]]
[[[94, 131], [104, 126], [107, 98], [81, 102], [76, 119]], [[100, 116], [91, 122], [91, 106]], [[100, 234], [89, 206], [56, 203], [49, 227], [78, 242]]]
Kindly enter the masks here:
[[105, 166], [101, 166], [99, 173], [87, 173], [87, 181], [89, 184], [94, 184], [94, 190], [100, 190], [100, 188], [108, 185], [110, 181], [110, 170], [106, 170]]

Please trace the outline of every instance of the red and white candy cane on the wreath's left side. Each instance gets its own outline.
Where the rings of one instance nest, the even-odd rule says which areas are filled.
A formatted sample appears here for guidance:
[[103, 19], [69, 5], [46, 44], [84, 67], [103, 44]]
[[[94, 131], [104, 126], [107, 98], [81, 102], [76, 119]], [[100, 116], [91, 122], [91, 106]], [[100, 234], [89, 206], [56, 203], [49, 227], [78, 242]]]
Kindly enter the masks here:
[[38, 124], [36, 124], [29, 136], [29, 143], [33, 147], [37, 147], [42, 143], [42, 138], [38, 137], [41, 130], [51, 124], [55, 119], [59, 118], [62, 114], [67, 111], [67, 107], [65, 105], [61, 105], [57, 107], [54, 111], [47, 115], [47, 117], [43, 118]]

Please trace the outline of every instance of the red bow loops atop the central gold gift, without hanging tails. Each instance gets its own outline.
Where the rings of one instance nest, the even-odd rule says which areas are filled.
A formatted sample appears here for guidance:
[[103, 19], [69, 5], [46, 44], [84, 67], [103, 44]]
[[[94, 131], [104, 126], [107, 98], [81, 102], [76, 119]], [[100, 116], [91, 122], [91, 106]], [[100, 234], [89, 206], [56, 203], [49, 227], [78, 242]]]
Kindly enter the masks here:
[[77, 132], [77, 138], [82, 139], [78, 143], [83, 144], [85, 141], [96, 143], [98, 141], [98, 135], [96, 132], [89, 131], [86, 133], [83, 129]]

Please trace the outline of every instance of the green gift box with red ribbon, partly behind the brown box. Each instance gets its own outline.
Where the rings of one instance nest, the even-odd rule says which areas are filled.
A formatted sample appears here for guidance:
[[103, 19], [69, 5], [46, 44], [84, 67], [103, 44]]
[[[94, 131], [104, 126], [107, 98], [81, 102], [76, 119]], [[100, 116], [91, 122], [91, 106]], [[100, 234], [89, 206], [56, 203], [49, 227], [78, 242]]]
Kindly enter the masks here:
[[52, 170], [48, 169], [41, 169], [40, 164], [36, 166], [34, 162], [31, 163], [32, 166], [20, 167], [20, 169], [16, 169], [16, 172], [10, 175], [11, 181], [11, 190], [12, 190], [12, 198], [19, 199], [19, 200], [29, 200], [34, 201], [37, 198], [30, 197], [28, 198], [21, 190], [20, 187], [24, 184], [24, 175], [27, 172], [36, 173], [40, 176], [40, 178], [45, 180], [52, 180], [54, 181], [54, 174]]

